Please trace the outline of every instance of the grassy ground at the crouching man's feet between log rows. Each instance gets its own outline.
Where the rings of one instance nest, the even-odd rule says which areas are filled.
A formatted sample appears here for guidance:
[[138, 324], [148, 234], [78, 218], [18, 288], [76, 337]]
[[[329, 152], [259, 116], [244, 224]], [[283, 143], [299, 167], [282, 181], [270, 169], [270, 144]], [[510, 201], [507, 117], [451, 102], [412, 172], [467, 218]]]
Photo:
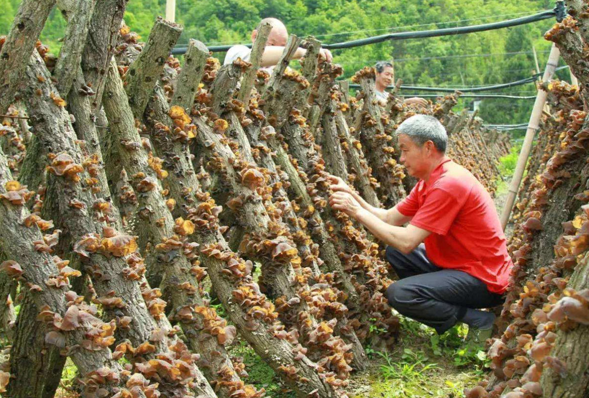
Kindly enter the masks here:
[[457, 325], [438, 336], [401, 316], [400, 339], [388, 352], [372, 354], [365, 372], [350, 379], [352, 398], [454, 398], [464, 396], [486, 373], [484, 351], [464, 346], [468, 327]]

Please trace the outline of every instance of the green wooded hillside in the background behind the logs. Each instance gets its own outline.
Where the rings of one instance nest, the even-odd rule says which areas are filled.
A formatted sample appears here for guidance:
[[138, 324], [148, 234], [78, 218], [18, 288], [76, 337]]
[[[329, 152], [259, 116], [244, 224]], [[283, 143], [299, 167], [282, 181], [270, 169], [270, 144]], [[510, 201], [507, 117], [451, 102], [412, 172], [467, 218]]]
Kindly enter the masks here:
[[[1, 0], [0, 35], [8, 33], [20, 0]], [[100, 4], [100, 2], [98, 3]], [[131, 0], [125, 22], [147, 39], [154, 19], [165, 14], [166, 0]], [[388, 32], [418, 31], [487, 24], [535, 14], [554, 7], [548, 0], [177, 0], [176, 22], [184, 26], [178, 45], [194, 38], [207, 45], [250, 42], [260, 18], [282, 19], [289, 33], [314, 35], [326, 43], [360, 39]], [[395, 59], [396, 78], [406, 85], [473, 87], [530, 77], [535, 72], [532, 47], [544, 70], [550, 42], [544, 32], [554, 24], [547, 19], [533, 24], [467, 35], [387, 41], [333, 51], [334, 62], [351, 77], [360, 68], [382, 59]], [[65, 20], [52, 11], [41, 40], [57, 54]], [[215, 53], [223, 61], [224, 53]], [[564, 62], [560, 61], [560, 65]], [[570, 81], [568, 69], [557, 76]], [[533, 84], [494, 91], [534, 95]], [[403, 94], [412, 94], [403, 92]], [[472, 109], [474, 99], [455, 107]], [[479, 115], [487, 123], [519, 124], [528, 121], [533, 100], [484, 99]], [[514, 138], [525, 131], [512, 131]]]

